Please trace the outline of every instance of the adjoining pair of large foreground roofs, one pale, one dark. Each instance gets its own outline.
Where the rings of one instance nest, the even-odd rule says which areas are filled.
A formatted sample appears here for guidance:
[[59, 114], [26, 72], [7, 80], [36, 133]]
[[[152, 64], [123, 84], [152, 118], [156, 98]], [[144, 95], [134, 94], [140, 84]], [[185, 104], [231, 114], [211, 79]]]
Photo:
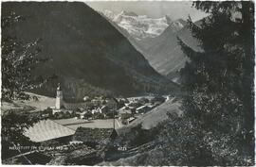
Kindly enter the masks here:
[[29, 127], [24, 133], [30, 141], [39, 145], [68, 145], [77, 143], [89, 143], [97, 145], [101, 142], [115, 140], [118, 133], [113, 128], [88, 128], [77, 129], [59, 124], [54, 120], [41, 120], [36, 125]]

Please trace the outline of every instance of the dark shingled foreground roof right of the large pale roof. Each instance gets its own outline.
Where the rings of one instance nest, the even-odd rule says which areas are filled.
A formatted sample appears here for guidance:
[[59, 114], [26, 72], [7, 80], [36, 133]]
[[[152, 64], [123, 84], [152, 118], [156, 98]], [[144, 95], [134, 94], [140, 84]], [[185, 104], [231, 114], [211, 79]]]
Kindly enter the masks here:
[[73, 137], [73, 141], [101, 142], [117, 135], [113, 128], [87, 128], [79, 127]]

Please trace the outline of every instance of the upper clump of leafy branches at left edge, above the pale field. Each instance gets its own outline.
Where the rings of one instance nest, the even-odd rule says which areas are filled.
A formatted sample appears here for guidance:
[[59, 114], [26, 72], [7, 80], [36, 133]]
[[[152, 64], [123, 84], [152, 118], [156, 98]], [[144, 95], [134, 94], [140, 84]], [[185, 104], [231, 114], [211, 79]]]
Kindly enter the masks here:
[[11, 12], [2, 16], [2, 100], [27, 99], [25, 91], [34, 89], [43, 81], [42, 76], [32, 76], [35, 66], [46, 58], [39, 58], [40, 39], [23, 42], [13, 34], [13, 28], [26, 18]]

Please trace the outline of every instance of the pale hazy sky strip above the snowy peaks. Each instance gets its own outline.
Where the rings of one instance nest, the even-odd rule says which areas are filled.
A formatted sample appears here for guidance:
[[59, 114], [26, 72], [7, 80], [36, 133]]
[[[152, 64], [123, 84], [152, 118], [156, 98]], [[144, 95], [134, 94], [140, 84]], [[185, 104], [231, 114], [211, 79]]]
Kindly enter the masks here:
[[168, 15], [173, 20], [188, 19], [190, 14], [192, 21], [197, 21], [206, 16], [204, 12], [192, 8], [192, 2], [188, 1], [98, 1], [85, 3], [100, 11], [105, 9], [112, 10], [115, 13], [122, 10], [134, 11], [138, 15], [148, 15], [153, 18]]

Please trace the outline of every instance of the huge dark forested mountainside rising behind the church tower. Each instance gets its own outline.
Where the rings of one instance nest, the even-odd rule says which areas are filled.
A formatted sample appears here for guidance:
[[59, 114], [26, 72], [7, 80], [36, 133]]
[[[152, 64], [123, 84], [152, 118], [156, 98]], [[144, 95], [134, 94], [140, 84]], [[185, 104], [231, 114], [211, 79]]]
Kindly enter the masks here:
[[[57, 75], [35, 92], [54, 95], [61, 82], [65, 94], [164, 92], [174, 83], [158, 75], [148, 61], [92, 8], [80, 2], [5, 2], [2, 16], [14, 11], [26, 17], [11, 30], [24, 42], [42, 38], [36, 75]], [[5, 36], [3, 32], [2, 36]]]

